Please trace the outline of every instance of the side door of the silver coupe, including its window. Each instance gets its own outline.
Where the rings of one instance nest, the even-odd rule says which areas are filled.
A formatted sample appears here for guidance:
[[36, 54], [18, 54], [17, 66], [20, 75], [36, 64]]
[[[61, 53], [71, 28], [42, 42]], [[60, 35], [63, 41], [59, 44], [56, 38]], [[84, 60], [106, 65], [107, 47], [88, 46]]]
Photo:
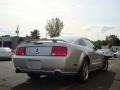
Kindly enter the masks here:
[[[89, 57], [91, 59], [92, 67], [100, 66], [102, 64], [102, 56], [97, 52], [96, 49], [94, 49], [94, 45], [92, 42], [88, 39], [84, 39], [84, 42], [86, 43], [87, 47], [89, 48], [88, 53]], [[91, 67], [91, 68], [92, 68]]]

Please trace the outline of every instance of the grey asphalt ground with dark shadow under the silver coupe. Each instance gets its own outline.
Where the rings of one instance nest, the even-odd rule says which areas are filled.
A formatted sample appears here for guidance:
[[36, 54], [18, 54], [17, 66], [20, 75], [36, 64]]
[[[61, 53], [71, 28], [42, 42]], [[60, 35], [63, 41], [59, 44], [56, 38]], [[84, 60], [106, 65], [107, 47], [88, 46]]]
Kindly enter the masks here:
[[120, 60], [109, 60], [107, 72], [90, 73], [87, 83], [72, 77], [31, 80], [26, 74], [16, 74], [12, 61], [0, 61], [0, 90], [120, 90]]

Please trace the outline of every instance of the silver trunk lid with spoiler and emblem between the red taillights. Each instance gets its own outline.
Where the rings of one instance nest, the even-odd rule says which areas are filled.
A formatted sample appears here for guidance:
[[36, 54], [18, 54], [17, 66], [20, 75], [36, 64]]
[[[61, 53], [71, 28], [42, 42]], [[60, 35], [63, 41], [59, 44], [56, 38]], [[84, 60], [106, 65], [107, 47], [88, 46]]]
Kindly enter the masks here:
[[63, 40], [47, 39], [20, 45], [20, 47], [26, 48], [26, 56], [51, 56], [53, 46], [66, 47], [66, 42]]

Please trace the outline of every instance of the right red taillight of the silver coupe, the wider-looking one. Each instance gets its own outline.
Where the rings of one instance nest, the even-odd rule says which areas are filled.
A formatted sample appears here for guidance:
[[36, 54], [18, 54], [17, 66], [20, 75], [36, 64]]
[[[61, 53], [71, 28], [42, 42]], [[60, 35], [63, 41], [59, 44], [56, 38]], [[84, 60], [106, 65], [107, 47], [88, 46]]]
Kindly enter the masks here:
[[52, 56], [67, 56], [67, 47], [62, 47], [62, 46], [53, 46], [52, 47]]

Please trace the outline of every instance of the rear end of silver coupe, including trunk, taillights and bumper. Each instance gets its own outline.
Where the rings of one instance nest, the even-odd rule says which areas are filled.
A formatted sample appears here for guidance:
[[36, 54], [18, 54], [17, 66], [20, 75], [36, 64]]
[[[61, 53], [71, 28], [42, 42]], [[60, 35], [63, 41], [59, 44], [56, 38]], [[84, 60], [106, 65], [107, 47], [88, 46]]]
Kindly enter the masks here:
[[66, 60], [69, 44], [61, 40], [43, 40], [21, 44], [13, 57], [17, 73], [69, 74]]

